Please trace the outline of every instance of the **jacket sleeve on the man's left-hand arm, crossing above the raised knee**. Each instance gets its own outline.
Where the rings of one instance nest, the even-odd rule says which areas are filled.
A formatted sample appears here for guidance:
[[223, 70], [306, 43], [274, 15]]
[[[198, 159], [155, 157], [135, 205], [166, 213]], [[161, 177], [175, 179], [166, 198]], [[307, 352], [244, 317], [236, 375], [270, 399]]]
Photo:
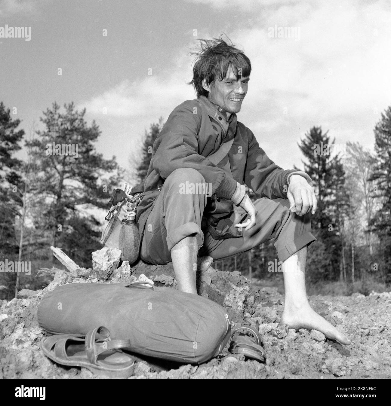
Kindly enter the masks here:
[[[194, 107], [197, 110], [193, 110]], [[198, 114], [194, 114], [194, 111], [198, 111]], [[231, 199], [237, 182], [198, 153], [198, 130], [202, 120], [200, 111], [196, 101], [184, 102], [174, 109], [154, 143], [152, 168], [163, 179], [176, 169], [193, 168], [201, 173], [206, 184], [211, 185], [211, 194]]]

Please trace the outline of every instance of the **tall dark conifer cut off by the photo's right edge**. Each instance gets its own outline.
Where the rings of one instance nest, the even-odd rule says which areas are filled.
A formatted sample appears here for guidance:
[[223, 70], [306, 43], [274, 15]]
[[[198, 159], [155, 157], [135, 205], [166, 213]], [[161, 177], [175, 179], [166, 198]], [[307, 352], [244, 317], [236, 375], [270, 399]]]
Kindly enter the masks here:
[[375, 198], [380, 198], [381, 208], [371, 225], [377, 231], [382, 247], [383, 275], [391, 281], [391, 106], [384, 110], [375, 129], [375, 169], [370, 180], [375, 182]]

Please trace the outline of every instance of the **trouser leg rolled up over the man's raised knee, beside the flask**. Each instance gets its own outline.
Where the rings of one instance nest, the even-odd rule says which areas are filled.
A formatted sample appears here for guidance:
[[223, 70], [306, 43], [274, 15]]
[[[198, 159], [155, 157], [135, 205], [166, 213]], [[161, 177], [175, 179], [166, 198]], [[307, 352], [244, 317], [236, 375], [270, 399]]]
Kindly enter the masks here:
[[[197, 186], [191, 188], [191, 184]], [[146, 222], [140, 250], [143, 261], [171, 262], [172, 247], [189, 235], [195, 235], [199, 247], [203, 245], [201, 220], [208, 190], [204, 177], [192, 168], [176, 169], [167, 177]]]

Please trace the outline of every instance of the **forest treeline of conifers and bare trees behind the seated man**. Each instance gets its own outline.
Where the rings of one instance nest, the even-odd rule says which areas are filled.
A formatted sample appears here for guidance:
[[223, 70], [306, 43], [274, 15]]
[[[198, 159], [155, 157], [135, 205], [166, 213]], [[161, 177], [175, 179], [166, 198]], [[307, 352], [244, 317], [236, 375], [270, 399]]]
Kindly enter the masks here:
[[[0, 103], [0, 271], [6, 261], [31, 263], [29, 276], [0, 272], [0, 299], [47, 283], [35, 275], [55, 264], [51, 245], [90, 268], [91, 252], [101, 248], [104, 215], [98, 209], [108, 209], [113, 188], [146, 177], [162, 118], [146, 131], [129, 168], [121, 168], [115, 156], [104, 159], [96, 151], [99, 126], [88, 125], [84, 116], [85, 109], [73, 103], [63, 108], [54, 103], [40, 118], [43, 129], [32, 125], [25, 134], [18, 129], [20, 119]], [[374, 136], [374, 154], [359, 143], [336, 145], [321, 126], [309, 129], [298, 144], [303, 159], [295, 169], [313, 179], [318, 200], [311, 216], [317, 242], [307, 259], [313, 283], [352, 284], [368, 275], [391, 283], [391, 107], [381, 114]], [[17, 158], [22, 147], [25, 159]], [[278, 164], [284, 167], [283, 157]], [[265, 243], [219, 266], [261, 277], [278, 272], [279, 263], [273, 243]]]

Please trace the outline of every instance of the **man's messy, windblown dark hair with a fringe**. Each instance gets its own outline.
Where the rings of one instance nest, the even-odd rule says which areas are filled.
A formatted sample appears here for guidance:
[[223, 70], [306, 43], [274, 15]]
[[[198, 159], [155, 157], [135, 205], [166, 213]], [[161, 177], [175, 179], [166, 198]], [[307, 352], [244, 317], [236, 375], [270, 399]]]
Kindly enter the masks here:
[[200, 50], [192, 52], [195, 55], [193, 67], [193, 79], [188, 84], [192, 84], [197, 92], [197, 96], [208, 97], [208, 91], [202, 87], [202, 80], [206, 79], [206, 84], [211, 84], [217, 78], [223, 80], [227, 71], [232, 65], [232, 70], [236, 72], [236, 79], [250, 76], [251, 63], [250, 59], [243, 51], [235, 48], [230, 39], [229, 44], [222, 39], [224, 34], [219, 38], [200, 39]]

